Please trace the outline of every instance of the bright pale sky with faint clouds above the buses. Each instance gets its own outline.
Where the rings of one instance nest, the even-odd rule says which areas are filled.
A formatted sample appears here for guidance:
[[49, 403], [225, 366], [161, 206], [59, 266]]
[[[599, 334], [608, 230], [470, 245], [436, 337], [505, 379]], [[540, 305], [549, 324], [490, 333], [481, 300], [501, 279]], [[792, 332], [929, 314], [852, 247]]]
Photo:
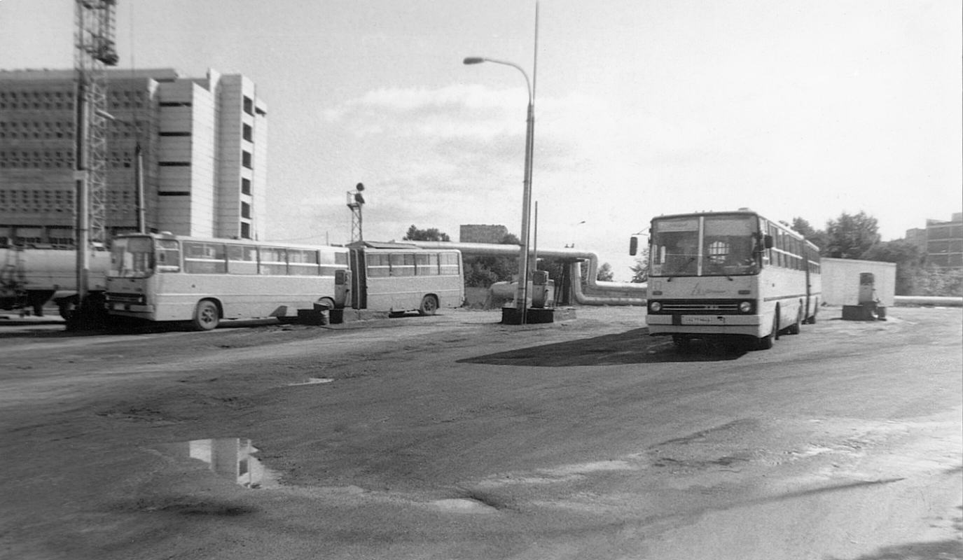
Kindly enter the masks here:
[[[70, 68], [73, 2], [0, 0], [0, 68]], [[266, 239], [521, 232], [628, 280], [653, 216], [748, 207], [884, 241], [963, 208], [958, 0], [118, 0], [121, 68], [241, 73], [268, 105]], [[537, 49], [536, 46], [537, 30]]]

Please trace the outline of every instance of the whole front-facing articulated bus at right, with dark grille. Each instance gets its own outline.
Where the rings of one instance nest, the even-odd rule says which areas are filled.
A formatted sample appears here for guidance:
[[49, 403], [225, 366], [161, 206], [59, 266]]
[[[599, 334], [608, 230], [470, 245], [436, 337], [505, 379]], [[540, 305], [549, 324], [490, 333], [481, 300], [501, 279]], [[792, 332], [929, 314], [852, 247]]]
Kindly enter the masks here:
[[820, 286], [819, 247], [749, 210], [652, 220], [646, 322], [678, 347], [737, 336], [771, 348], [816, 322]]

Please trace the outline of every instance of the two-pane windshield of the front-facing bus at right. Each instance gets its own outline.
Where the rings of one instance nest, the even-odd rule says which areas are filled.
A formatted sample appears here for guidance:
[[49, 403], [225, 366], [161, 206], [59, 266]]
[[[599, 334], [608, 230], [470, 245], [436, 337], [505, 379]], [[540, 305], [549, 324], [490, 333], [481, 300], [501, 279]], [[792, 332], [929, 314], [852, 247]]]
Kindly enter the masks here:
[[733, 276], [759, 271], [756, 216], [677, 216], [652, 222], [652, 276]]

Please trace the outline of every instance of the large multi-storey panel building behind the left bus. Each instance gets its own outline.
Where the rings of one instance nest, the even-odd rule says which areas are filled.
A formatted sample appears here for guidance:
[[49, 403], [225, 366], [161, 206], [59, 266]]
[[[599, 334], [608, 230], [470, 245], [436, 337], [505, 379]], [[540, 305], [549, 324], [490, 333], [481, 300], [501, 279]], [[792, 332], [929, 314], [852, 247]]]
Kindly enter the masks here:
[[[268, 118], [255, 85], [214, 70], [106, 75], [108, 238], [137, 229], [138, 143], [149, 231], [263, 238]], [[74, 243], [75, 88], [73, 70], [0, 70], [0, 246]]]

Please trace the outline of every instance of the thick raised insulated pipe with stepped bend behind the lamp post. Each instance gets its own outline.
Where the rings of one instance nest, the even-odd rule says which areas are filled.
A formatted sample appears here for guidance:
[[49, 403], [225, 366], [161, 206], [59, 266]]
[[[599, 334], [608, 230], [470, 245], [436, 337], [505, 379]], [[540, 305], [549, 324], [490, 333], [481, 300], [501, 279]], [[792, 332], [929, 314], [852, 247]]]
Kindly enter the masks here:
[[[457, 249], [465, 255], [485, 257], [517, 257], [518, 245], [501, 243], [409, 242], [425, 249]], [[580, 305], [645, 305], [648, 284], [634, 282], [602, 282], [597, 280], [599, 257], [590, 251], [574, 248], [538, 249], [538, 256], [546, 259], [570, 261], [572, 296]], [[582, 267], [588, 263], [586, 290], [582, 290]]]

